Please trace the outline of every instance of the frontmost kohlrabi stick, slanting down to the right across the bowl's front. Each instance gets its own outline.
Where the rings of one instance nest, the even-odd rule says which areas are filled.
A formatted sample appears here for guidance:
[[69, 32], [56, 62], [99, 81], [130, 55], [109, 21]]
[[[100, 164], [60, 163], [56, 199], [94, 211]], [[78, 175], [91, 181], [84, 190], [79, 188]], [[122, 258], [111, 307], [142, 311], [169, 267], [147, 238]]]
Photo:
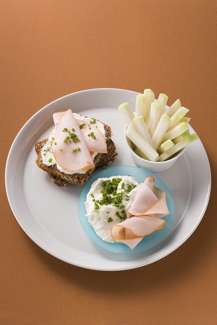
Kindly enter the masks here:
[[153, 149], [143, 138], [140, 136], [134, 128], [129, 125], [126, 136], [151, 160], [157, 161], [159, 155], [155, 149]]

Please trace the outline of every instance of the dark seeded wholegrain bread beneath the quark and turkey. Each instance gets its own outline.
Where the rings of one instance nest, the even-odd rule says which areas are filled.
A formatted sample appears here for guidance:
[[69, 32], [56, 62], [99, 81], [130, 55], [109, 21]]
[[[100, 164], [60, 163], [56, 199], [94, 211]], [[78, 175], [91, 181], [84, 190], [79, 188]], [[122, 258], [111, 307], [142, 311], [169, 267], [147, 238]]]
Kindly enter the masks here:
[[73, 175], [69, 175], [60, 172], [56, 166], [45, 165], [42, 160], [41, 149], [47, 143], [47, 139], [35, 143], [35, 151], [38, 155], [36, 159], [36, 164], [39, 168], [48, 173], [53, 183], [59, 186], [66, 186], [68, 183], [83, 185], [85, 182], [87, 182], [87, 180], [90, 178], [90, 175], [96, 169], [100, 169], [105, 167], [106, 165], [111, 164], [117, 157], [117, 150], [114, 142], [111, 139], [111, 128], [107, 124], [104, 124], [104, 128], [106, 132], [106, 144], [108, 148], [108, 153], [98, 153], [93, 160], [95, 167], [93, 169], [88, 170], [85, 174], [76, 173]]

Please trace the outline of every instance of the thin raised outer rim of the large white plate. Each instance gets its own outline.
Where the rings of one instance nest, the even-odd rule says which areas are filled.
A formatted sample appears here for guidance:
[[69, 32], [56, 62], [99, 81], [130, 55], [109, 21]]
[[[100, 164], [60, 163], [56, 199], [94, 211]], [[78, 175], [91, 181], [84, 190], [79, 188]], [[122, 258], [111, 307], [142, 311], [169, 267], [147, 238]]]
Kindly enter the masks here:
[[148, 264], [151, 264], [151, 263], [154, 263], [160, 259], [162, 259], [163, 257], [169, 255], [170, 253], [172, 253], [173, 251], [175, 251], [177, 248], [179, 248], [191, 235], [192, 233], [196, 230], [196, 228], [198, 227], [199, 223], [201, 222], [205, 212], [206, 212], [206, 209], [207, 209], [207, 206], [208, 206], [208, 203], [209, 203], [209, 199], [210, 199], [210, 191], [211, 191], [211, 170], [210, 170], [210, 163], [209, 163], [209, 159], [208, 159], [208, 156], [207, 156], [207, 153], [206, 153], [206, 150], [203, 146], [203, 150], [204, 150], [204, 153], [205, 153], [205, 158], [206, 158], [206, 162], [207, 162], [207, 165], [208, 165], [208, 174], [209, 174], [209, 188], [208, 188], [208, 192], [207, 192], [207, 196], [206, 196], [206, 201], [205, 201], [205, 204], [204, 204], [204, 207], [202, 209], [202, 212], [200, 214], [200, 216], [198, 217], [198, 220], [196, 222], [196, 224], [194, 225], [194, 227], [188, 232], [188, 234], [181, 240], [179, 241], [179, 243], [177, 243], [174, 247], [172, 247], [170, 250], [168, 250], [166, 253], [163, 253], [161, 255], [161, 257], [156, 257], [156, 258], [153, 258], [151, 259], [150, 261], [148, 261], [147, 263], [142, 263], [140, 265], [137, 265], [137, 266], [130, 266], [130, 267], [118, 267], [118, 268], [113, 268], [113, 269], [106, 269], [106, 268], [101, 268], [101, 267], [89, 267], [89, 266], [86, 266], [86, 265], [82, 265], [82, 263], [72, 263], [71, 261], [67, 260], [67, 258], [63, 258], [61, 255], [59, 255], [58, 253], [55, 253], [53, 251], [51, 251], [50, 249], [48, 249], [43, 243], [41, 243], [40, 240], [38, 240], [37, 238], [34, 238], [34, 236], [31, 234], [31, 232], [28, 230], [28, 228], [26, 228], [21, 220], [19, 220], [19, 217], [15, 214], [15, 207], [13, 206], [13, 202], [12, 200], [9, 198], [9, 180], [7, 179], [8, 177], [8, 164], [9, 164], [9, 160], [10, 160], [10, 155], [11, 155], [11, 152], [14, 148], [14, 146], [16, 145], [16, 141], [17, 139], [19, 138], [20, 134], [22, 133], [24, 127], [30, 123], [30, 121], [32, 121], [32, 119], [34, 119], [41, 111], [43, 110], [46, 110], [47, 107], [49, 105], [51, 105], [52, 103], [54, 102], [57, 102], [59, 100], [61, 100], [62, 98], [66, 98], [66, 97], [69, 97], [73, 94], [78, 94], [78, 93], [83, 93], [83, 92], [88, 92], [88, 91], [93, 91], [93, 90], [99, 90], [99, 91], [103, 91], [103, 90], [120, 90], [120, 91], [126, 91], [126, 92], [131, 92], [131, 93], [135, 93], [135, 94], [139, 94], [138, 92], [136, 91], [133, 91], [133, 90], [128, 90], [128, 89], [121, 89], [121, 88], [91, 88], [91, 89], [85, 89], [85, 90], [80, 90], [80, 91], [77, 91], [77, 92], [74, 92], [74, 93], [70, 93], [70, 94], [67, 94], [67, 95], [64, 95], [60, 98], [57, 98], [55, 100], [53, 100], [52, 102], [48, 103], [47, 105], [45, 105], [44, 107], [42, 107], [40, 110], [38, 110], [36, 113], [34, 113], [34, 115], [32, 115], [30, 117], [30, 119], [28, 121], [26, 121], [26, 123], [24, 123], [24, 125], [21, 127], [20, 131], [18, 132], [18, 134], [16, 135], [15, 139], [13, 140], [13, 143], [10, 147], [10, 150], [8, 152], [8, 155], [7, 155], [7, 161], [6, 161], [6, 166], [5, 166], [5, 188], [6, 188], [6, 194], [7, 194], [7, 199], [8, 199], [8, 202], [9, 202], [9, 205], [10, 205], [10, 208], [18, 222], [18, 224], [20, 225], [20, 227], [22, 228], [22, 230], [26, 233], [26, 235], [34, 241], [34, 243], [36, 243], [40, 248], [42, 248], [44, 251], [46, 251], [47, 253], [51, 254], [52, 256], [66, 262], [66, 263], [69, 263], [71, 265], [75, 265], [75, 266], [79, 266], [79, 267], [83, 267], [83, 268], [86, 268], [86, 269], [92, 269], [92, 270], [99, 270], [99, 271], [122, 271], [122, 270], [128, 270], [128, 269], [133, 269], [133, 268], [137, 268], [137, 267], [141, 267], [141, 266], [145, 266], [145, 265], [148, 265]]

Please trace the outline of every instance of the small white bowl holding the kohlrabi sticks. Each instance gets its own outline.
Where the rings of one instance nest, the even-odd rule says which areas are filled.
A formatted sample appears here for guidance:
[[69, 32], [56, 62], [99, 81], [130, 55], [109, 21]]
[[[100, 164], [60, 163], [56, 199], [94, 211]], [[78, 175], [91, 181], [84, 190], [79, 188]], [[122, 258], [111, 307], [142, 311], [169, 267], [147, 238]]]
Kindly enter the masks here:
[[124, 139], [125, 139], [128, 149], [129, 149], [129, 152], [131, 153], [133, 161], [137, 164], [137, 166], [139, 166], [141, 168], [145, 168], [145, 169], [149, 170], [150, 172], [162, 172], [163, 170], [170, 168], [177, 161], [177, 159], [184, 153], [184, 151], [187, 148], [187, 147], [183, 148], [173, 158], [166, 160], [165, 162], [151, 162], [151, 161], [148, 161], [148, 160], [145, 160], [145, 159], [139, 157], [133, 151], [132, 146], [131, 146], [131, 141], [126, 136], [126, 131], [127, 131], [127, 126], [125, 125]]

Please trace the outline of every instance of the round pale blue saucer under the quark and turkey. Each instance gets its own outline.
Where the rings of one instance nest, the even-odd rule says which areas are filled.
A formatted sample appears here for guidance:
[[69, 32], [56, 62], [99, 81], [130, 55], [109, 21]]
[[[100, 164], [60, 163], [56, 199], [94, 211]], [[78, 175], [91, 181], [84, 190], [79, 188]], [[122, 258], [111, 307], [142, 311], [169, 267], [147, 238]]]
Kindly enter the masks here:
[[[163, 220], [166, 221], [166, 225], [162, 229], [157, 230], [148, 236], [145, 236], [133, 250], [131, 250], [127, 245], [123, 243], [117, 243], [117, 242], [108, 243], [102, 240], [99, 236], [97, 236], [94, 229], [88, 223], [88, 218], [85, 216], [86, 209], [84, 203], [86, 201], [87, 194], [93, 182], [101, 177], [111, 177], [111, 176], [118, 176], [118, 175], [121, 176], [130, 175], [134, 177], [138, 183], [143, 183], [146, 176], [154, 177], [155, 186], [166, 192], [167, 206], [170, 211], [170, 214], [162, 218]], [[161, 242], [161, 240], [163, 240], [164, 237], [167, 235], [168, 231], [172, 226], [174, 213], [175, 213], [175, 208], [174, 208], [173, 198], [166, 184], [158, 176], [149, 172], [148, 170], [139, 167], [134, 167], [134, 166], [112, 167], [112, 168], [105, 169], [99, 174], [93, 176], [85, 185], [83, 191], [81, 192], [79, 202], [78, 202], [79, 220], [82, 228], [84, 229], [88, 237], [92, 241], [94, 241], [97, 245], [106, 249], [107, 251], [114, 252], [114, 253], [121, 253], [121, 254], [132, 254], [132, 253], [144, 252], [159, 244], [159, 242]]]

